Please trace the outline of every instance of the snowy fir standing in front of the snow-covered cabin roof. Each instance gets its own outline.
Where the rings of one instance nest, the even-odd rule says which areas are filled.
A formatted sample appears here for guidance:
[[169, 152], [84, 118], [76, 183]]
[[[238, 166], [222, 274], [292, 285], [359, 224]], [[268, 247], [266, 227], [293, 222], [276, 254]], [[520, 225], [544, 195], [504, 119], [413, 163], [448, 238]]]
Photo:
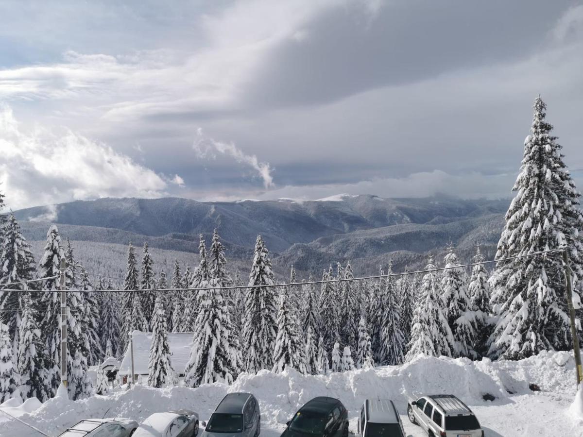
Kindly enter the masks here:
[[150, 360], [148, 362], [147, 384], [150, 387], [161, 388], [174, 385], [175, 373], [171, 363], [171, 355], [168, 346], [164, 298], [158, 294], [152, 316], [152, 343], [150, 344]]

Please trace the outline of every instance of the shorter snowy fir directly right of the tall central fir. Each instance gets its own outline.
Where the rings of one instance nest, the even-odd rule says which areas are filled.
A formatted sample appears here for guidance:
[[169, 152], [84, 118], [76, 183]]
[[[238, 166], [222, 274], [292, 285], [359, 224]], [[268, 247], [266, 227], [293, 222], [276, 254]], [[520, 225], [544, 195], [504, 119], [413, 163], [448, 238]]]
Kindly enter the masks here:
[[291, 367], [300, 373], [308, 373], [305, 366], [304, 348], [296, 313], [290, 308], [291, 292], [282, 293], [278, 307], [278, 335], [273, 349], [273, 372], [281, 373]]

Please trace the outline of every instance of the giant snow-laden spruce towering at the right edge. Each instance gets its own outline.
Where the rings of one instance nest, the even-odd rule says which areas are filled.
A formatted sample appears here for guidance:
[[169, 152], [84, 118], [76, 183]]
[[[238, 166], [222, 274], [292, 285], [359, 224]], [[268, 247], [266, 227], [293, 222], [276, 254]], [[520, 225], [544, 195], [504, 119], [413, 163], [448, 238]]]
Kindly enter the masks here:
[[[577, 213], [567, 212], [575, 207], [574, 184], [545, 110], [546, 104], [538, 97], [513, 188], [517, 195], [506, 213], [498, 242], [498, 262], [491, 281], [491, 303], [499, 316], [489, 349], [493, 358], [518, 360], [542, 350], [565, 350], [570, 345], [561, 253], [515, 258], [563, 248], [568, 241], [576, 244], [580, 238]], [[571, 235], [567, 237], [565, 231]]]

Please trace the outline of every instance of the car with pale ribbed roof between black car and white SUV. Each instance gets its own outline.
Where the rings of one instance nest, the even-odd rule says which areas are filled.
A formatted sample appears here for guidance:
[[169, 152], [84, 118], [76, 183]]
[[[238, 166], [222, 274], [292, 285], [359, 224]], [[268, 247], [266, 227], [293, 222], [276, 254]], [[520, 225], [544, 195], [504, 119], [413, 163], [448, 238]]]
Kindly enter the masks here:
[[361, 437], [405, 437], [401, 416], [392, 400], [367, 399], [360, 408]]

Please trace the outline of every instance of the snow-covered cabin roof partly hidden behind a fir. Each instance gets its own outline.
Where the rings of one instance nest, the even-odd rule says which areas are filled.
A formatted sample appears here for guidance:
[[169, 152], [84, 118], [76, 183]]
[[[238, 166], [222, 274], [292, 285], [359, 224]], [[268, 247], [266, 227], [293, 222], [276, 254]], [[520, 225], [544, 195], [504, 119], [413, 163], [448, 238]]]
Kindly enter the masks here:
[[[148, 362], [150, 360], [150, 345], [152, 344], [151, 332], [134, 331], [134, 371], [136, 375], [148, 374]], [[190, 350], [192, 349], [192, 332], [169, 332], [168, 346], [172, 353], [172, 366], [179, 375], [184, 373], [188, 363]], [[128, 349], [125, 351], [124, 359], [121, 361], [119, 375], [131, 375], [132, 362]]]

